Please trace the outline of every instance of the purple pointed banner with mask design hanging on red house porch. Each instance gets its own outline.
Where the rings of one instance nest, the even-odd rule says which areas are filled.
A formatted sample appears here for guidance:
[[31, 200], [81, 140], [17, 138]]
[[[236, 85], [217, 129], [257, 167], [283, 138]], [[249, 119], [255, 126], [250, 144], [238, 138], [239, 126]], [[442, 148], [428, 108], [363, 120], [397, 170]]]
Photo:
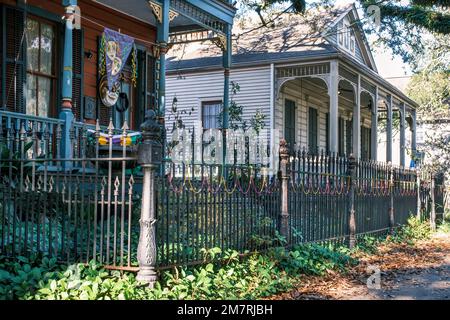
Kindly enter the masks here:
[[134, 39], [125, 34], [105, 28], [105, 57], [108, 88], [112, 90], [120, 77], [123, 67], [134, 48]]

